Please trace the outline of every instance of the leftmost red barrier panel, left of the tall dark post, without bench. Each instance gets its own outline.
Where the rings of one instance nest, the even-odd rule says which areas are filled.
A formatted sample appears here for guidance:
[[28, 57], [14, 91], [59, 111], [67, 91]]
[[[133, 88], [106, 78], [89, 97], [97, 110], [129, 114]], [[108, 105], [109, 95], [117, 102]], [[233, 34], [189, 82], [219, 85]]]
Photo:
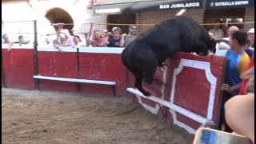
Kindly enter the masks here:
[[33, 49], [2, 49], [7, 87], [34, 89]]

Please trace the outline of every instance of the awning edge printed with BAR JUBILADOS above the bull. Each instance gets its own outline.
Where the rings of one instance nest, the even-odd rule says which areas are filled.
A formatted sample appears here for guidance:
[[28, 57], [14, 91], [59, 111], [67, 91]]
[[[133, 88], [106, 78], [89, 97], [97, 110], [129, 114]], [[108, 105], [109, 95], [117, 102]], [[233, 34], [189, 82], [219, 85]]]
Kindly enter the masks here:
[[94, 3], [94, 13], [138, 13], [143, 11], [202, 9], [202, 0], [113, 0]]

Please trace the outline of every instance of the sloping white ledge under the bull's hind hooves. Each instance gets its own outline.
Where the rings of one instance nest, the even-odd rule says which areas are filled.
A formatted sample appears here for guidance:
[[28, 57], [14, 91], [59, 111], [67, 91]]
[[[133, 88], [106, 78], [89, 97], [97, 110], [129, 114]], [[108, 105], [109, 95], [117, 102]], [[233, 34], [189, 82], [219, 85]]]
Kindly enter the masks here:
[[142, 98], [146, 98], [146, 99], [150, 99], [151, 101], [158, 102], [162, 106], [166, 106], [166, 107], [170, 108], [171, 110], [178, 112], [179, 114], [185, 115], [186, 117], [191, 118], [194, 121], [199, 122], [204, 126], [214, 126], [215, 125], [215, 123], [213, 121], [211, 121], [207, 118], [204, 118], [201, 115], [195, 114], [189, 110], [186, 110], [186, 109], [182, 108], [181, 106], [177, 106], [174, 103], [170, 103], [164, 99], [157, 98], [154, 96], [146, 97], [144, 94], [142, 94], [142, 92], [140, 92], [139, 90], [134, 89], [134, 88], [127, 88], [127, 91], [130, 91], [131, 93], [136, 94]]

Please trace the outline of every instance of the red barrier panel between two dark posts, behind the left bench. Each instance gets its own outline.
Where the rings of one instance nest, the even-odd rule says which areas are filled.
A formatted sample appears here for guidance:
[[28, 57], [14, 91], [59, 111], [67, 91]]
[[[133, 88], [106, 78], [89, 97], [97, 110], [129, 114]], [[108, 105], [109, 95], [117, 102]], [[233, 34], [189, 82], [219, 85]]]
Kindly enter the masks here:
[[[77, 53], [58, 51], [38, 51], [38, 74], [42, 76], [77, 78]], [[75, 82], [39, 80], [40, 90], [76, 92]]]

